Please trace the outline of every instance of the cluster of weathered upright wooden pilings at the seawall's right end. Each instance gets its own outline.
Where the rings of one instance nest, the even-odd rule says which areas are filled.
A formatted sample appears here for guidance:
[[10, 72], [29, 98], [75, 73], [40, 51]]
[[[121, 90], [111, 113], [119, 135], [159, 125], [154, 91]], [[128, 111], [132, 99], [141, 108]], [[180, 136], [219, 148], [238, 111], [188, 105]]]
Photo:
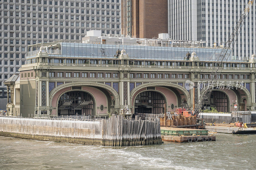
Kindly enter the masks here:
[[159, 119], [127, 120], [121, 115], [103, 119], [103, 146], [139, 146], [162, 144]]

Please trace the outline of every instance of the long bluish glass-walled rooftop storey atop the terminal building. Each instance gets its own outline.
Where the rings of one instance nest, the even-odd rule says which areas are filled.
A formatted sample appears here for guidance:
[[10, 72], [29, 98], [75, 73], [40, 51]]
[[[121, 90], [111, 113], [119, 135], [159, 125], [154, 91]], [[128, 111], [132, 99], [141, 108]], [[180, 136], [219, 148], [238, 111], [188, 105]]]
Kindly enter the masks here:
[[[49, 46], [48, 46], [49, 47]], [[130, 59], [135, 60], [185, 60], [184, 57], [193, 50], [199, 57], [200, 61], [216, 61], [221, 52], [221, 48], [188, 48], [188, 47], [153, 47], [138, 45], [109, 45], [109, 44], [90, 44], [90, 43], [67, 43], [60, 42], [54, 47], [49, 47], [48, 54], [50, 57], [74, 57], [74, 58], [116, 58], [116, 51], [126, 50]], [[56, 49], [58, 48], [58, 49]], [[35, 50], [36, 52], [38, 49]], [[230, 50], [231, 51], [231, 50]], [[27, 59], [36, 57], [36, 52], [30, 51]], [[228, 61], [232, 60], [232, 56], [228, 57]], [[239, 60], [239, 62], [248, 62]]]

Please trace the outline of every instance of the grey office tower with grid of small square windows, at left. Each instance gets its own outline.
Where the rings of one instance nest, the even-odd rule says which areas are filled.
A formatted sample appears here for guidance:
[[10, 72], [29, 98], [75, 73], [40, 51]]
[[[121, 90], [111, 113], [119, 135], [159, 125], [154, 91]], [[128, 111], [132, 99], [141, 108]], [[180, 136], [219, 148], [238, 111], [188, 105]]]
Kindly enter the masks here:
[[[121, 32], [120, 0], [0, 0], [0, 109], [6, 108], [4, 80], [25, 64], [29, 45], [80, 41], [86, 31]], [[1, 100], [3, 102], [1, 102]]]

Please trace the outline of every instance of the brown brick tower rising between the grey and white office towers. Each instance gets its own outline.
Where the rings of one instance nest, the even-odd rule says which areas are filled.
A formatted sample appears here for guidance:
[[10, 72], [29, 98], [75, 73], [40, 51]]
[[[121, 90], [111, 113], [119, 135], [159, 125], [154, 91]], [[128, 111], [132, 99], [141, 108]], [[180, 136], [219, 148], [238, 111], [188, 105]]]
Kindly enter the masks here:
[[122, 34], [137, 38], [168, 32], [167, 0], [122, 0]]

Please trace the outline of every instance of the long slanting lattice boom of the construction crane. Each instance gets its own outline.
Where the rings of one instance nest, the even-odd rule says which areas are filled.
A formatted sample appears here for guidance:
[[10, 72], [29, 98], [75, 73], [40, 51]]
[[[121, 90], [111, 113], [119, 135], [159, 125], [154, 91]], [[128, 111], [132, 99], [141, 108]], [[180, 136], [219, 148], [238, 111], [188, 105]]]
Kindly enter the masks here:
[[[216, 63], [214, 65], [214, 68], [207, 80], [208, 85], [205, 87], [205, 90], [201, 92], [198, 101], [196, 101], [195, 108], [193, 110], [193, 116], [196, 115], [198, 117], [202, 107], [204, 106], [205, 103], [208, 102], [209, 97], [212, 93], [212, 88], [216, 84], [220, 76], [220, 73], [223, 70], [224, 63], [226, 63], [228, 60], [228, 56], [230, 55], [234, 47], [238, 34], [240, 33], [242, 26], [244, 25], [245, 19], [251, 9], [253, 2], [254, 0], [248, 2], [244, 11], [241, 13], [239, 20], [237, 21], [233, 32], [230, 34], [228, 41], [225, 43], [224, 47], [222, 48], [221, 53], [218, 56]], [[231, 49], [230, 52], [228, 51], [229, 49]]]

